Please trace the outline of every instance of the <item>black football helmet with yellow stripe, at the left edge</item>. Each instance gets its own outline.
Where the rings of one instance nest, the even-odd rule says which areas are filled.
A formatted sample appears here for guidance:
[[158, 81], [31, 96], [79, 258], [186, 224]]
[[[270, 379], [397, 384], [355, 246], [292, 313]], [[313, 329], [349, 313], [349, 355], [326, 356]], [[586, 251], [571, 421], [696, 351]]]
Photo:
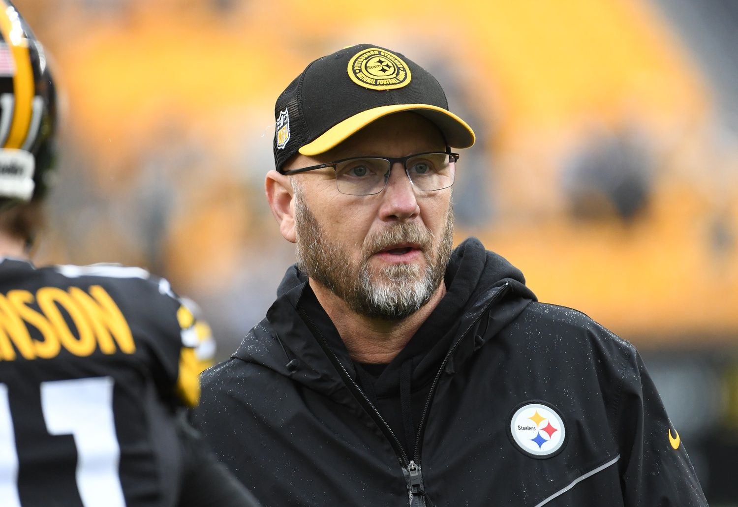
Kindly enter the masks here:
[[13, 3], [0, 0], [0, 210], [44, 198], [56, 115], [44, 48]]

